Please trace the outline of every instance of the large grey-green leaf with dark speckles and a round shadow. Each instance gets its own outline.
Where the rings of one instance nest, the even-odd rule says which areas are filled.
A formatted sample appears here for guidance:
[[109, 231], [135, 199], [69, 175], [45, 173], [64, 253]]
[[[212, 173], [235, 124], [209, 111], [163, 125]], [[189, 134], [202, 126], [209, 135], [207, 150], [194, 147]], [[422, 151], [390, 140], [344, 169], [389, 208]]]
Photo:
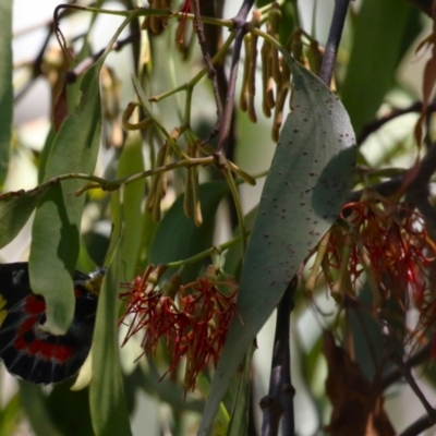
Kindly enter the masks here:
[[[241, 271], [237, 310], [214, 376], [199, 435], [207, 435], [232, 375], [299, 266], [337, 218], [349, 193], [355, 138], [338, 98], [287, 56], [294, 110], [265, 182]], [[241, 318], [243, 324], [241, 323]]]

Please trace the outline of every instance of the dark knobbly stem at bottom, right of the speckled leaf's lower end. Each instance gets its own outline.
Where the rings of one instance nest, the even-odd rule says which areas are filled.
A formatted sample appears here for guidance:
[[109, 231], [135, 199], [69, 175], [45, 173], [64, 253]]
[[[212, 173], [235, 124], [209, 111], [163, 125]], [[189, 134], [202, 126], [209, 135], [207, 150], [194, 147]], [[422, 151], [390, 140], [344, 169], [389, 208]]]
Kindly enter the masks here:
[[291, 436], [295, 431], [293, 414], [295, 390], [291, 384], [289, 332], [296, 283], [298, 276], [294, 276], [277, 307], [269, 392], [261, 400], [261, 408], [264, 413], [262, 436], [276, 436], [280, 420], [282, 421], [283, 435]]

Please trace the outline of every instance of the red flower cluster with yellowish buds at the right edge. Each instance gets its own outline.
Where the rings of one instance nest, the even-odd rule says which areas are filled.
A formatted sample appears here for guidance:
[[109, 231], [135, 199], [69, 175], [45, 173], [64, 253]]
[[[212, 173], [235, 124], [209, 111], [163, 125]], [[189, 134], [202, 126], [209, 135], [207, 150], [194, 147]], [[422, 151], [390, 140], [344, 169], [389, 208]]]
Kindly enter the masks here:
[[324, 238], [319, 245], [323, 259], [316, 262], [332, 296], [339, 302], [343, 294], [354, 298], [365, 279], [376, 312], [393, 295], [404, 312], [411, 305], [419, 311], [414, 334], [433, 324], [436, 245], [422, 216], [401, 204], [368, 195], [343, 207], [341, 223]]

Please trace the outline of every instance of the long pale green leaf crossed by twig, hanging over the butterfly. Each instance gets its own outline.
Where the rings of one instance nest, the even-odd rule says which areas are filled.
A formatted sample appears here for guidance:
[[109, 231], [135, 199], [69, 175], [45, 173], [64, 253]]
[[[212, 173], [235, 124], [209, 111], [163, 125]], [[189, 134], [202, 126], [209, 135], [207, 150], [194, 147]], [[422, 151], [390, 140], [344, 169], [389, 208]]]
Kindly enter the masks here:
[[[86, 72], [77, 113], [68, 117], [55, 137], [45, 168], [45, 180], [70, 172], [93, 173], [101, 131], [99, 71]], [[55, 186], [35, 214], [29, 257], [32, 289], [47, 301], [47, 327], [64, 334], [74, 313], [72, 274], [78, 256], [78, 235], [85, 197], [75, 196], [83, 181]]]

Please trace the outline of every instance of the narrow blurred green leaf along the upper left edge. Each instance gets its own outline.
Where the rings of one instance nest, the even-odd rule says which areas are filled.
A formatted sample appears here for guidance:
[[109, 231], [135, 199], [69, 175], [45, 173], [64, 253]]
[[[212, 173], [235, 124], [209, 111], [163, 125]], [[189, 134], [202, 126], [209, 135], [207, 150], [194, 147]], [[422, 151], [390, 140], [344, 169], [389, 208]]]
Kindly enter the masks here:
[[13, 117], [12, 7], [13, 1], [0, 1], [0, 189], [8, 173]]

